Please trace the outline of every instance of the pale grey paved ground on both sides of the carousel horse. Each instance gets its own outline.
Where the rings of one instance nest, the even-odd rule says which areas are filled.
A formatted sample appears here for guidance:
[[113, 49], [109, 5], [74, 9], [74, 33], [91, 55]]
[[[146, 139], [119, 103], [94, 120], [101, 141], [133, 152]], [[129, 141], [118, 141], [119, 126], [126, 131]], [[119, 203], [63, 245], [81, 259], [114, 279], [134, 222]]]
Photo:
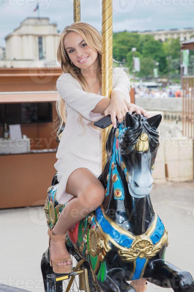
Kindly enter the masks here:
[[[154, 185], [151, 199], [168, 230], [165, 260], [194, 277], [194, 181]], [[43, 292], [40, 261], [48, 247], [43, 206], [0, 210], [0, 219], [0, 283]], [[148, 285], [149, 292], [167, 291]]]

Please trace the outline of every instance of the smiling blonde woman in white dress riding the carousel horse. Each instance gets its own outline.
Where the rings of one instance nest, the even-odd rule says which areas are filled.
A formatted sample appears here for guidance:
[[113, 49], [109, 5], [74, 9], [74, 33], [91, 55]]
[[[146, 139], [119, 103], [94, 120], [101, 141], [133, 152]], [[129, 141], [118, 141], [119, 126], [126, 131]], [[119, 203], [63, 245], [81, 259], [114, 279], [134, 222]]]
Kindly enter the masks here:
[[[121, 68], [113, 68], [111, 99], [100, 95], [101, 41], [101, 35], [94, 27], [76, 22], [65, 27], [58, 42], [57, 59], [64, 73], [56, 83], [61, 95], [57, 102], [61, 124], [58, 128], [58, 160], [54, 166], [59, 182], [56, 199], [66, 206], [55, 226], [48, 229], [50, 263], [56, 273], [68, 273], [72, 268], [64, 244], [67, 230], [104, 200], [105, 190], [98, 180], [101, 174], [101, 129], [93, 122], [110, 114], [116, 127], [116, 117], [119, 123], [123, 122], [127, 111], [148, 116], [143, 108], [130, 103], [129, 80]], [[59, 135], [63, 122], [66, 126]], [[136, 284], [142, 288], [145, 280], [137, 280]]]

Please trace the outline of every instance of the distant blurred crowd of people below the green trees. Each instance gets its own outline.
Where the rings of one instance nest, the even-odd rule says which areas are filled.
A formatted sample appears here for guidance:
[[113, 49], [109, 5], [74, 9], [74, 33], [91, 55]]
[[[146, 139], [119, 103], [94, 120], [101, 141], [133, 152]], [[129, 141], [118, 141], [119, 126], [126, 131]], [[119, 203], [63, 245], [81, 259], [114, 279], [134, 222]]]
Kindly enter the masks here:
[[170, 88], [149, 88], [149, 87], [136, 87], [136, 97], [147, 97], [147, 98], [168, 98], [168, 97], [182, 97], [181, 91], [178, 89], [172, 91]]

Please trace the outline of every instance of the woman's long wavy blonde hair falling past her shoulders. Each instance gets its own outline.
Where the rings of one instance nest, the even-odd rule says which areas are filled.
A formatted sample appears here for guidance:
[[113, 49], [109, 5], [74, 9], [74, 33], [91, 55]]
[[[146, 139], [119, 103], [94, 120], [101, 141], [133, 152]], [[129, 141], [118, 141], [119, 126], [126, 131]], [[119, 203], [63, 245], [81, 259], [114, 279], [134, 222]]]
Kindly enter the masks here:
[[[98, 63], [98, 68], [97, 68], [97, 78], [100, 84], [102, 84], [102, 36], [98, 32], [98, 30], [93, 27], [92, 25], [86, 23], [86, 22], [74, 22], [71, 25], [66, 26], [58, 40], [57, 44], [57, 60], [61, 64], [61, 70], [63, 73], [70, 73], [71, 76], [73, 76], [79, 84], [82, 86], [83, 90], [89, 93], [89, 88], [86, 83], [85, 78], [82, 76], [80, 68], [75, 66], [73, 63], [70, 62], [70, 58], [68, 56], [68, 53], [66, 49], [64, 48], [64, 38], [69, 32], [77, 32], [79, 33], [83, 39], [85, 40], [86, 44], [93, 49], [94, 51], [98, 52], [97, 56], [97, 63]], [[123, 63], [123, 62], [118, 62], [115, 59], [113, 60], [113, 67], [116, 67], [116, 63]], [[57, 90], [56, 86], [54, 90]], [[63, 123], [66, 124], [66, 119], [67, 119], [67, 112], [66, 112], [66, 106], [65, 106], [65, 101], [63, 98], [60, 96], [60, 99], [56, 101], [56, 110], [57, 110], [57, 117], [54, 119], [54, 129], [55, 133], [57, 133], [57, 137], [59, 141], [61, 140], [62, 133], [61, 132], [61, 127], [63, 126]], [[85, 132], [85, 127], [84, 123], [82, 121], [83, 116], [80, 114], [78, 121], [81, 123], [81, 125], [84, 128]], [[61, 132], [61, 133], [60, 133]]]

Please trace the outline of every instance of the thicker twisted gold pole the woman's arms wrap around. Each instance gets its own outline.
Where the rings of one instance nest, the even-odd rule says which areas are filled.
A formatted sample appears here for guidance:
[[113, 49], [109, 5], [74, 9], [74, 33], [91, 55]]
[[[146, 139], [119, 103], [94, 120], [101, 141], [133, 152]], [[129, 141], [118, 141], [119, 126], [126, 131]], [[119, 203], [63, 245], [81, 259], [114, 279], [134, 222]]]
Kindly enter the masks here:
[[[102, 95], [112, 92], [112, 0], [102, 0]], [[112, 125], [102, 129], [102, 171], [106, 164], [106, 140]]]

